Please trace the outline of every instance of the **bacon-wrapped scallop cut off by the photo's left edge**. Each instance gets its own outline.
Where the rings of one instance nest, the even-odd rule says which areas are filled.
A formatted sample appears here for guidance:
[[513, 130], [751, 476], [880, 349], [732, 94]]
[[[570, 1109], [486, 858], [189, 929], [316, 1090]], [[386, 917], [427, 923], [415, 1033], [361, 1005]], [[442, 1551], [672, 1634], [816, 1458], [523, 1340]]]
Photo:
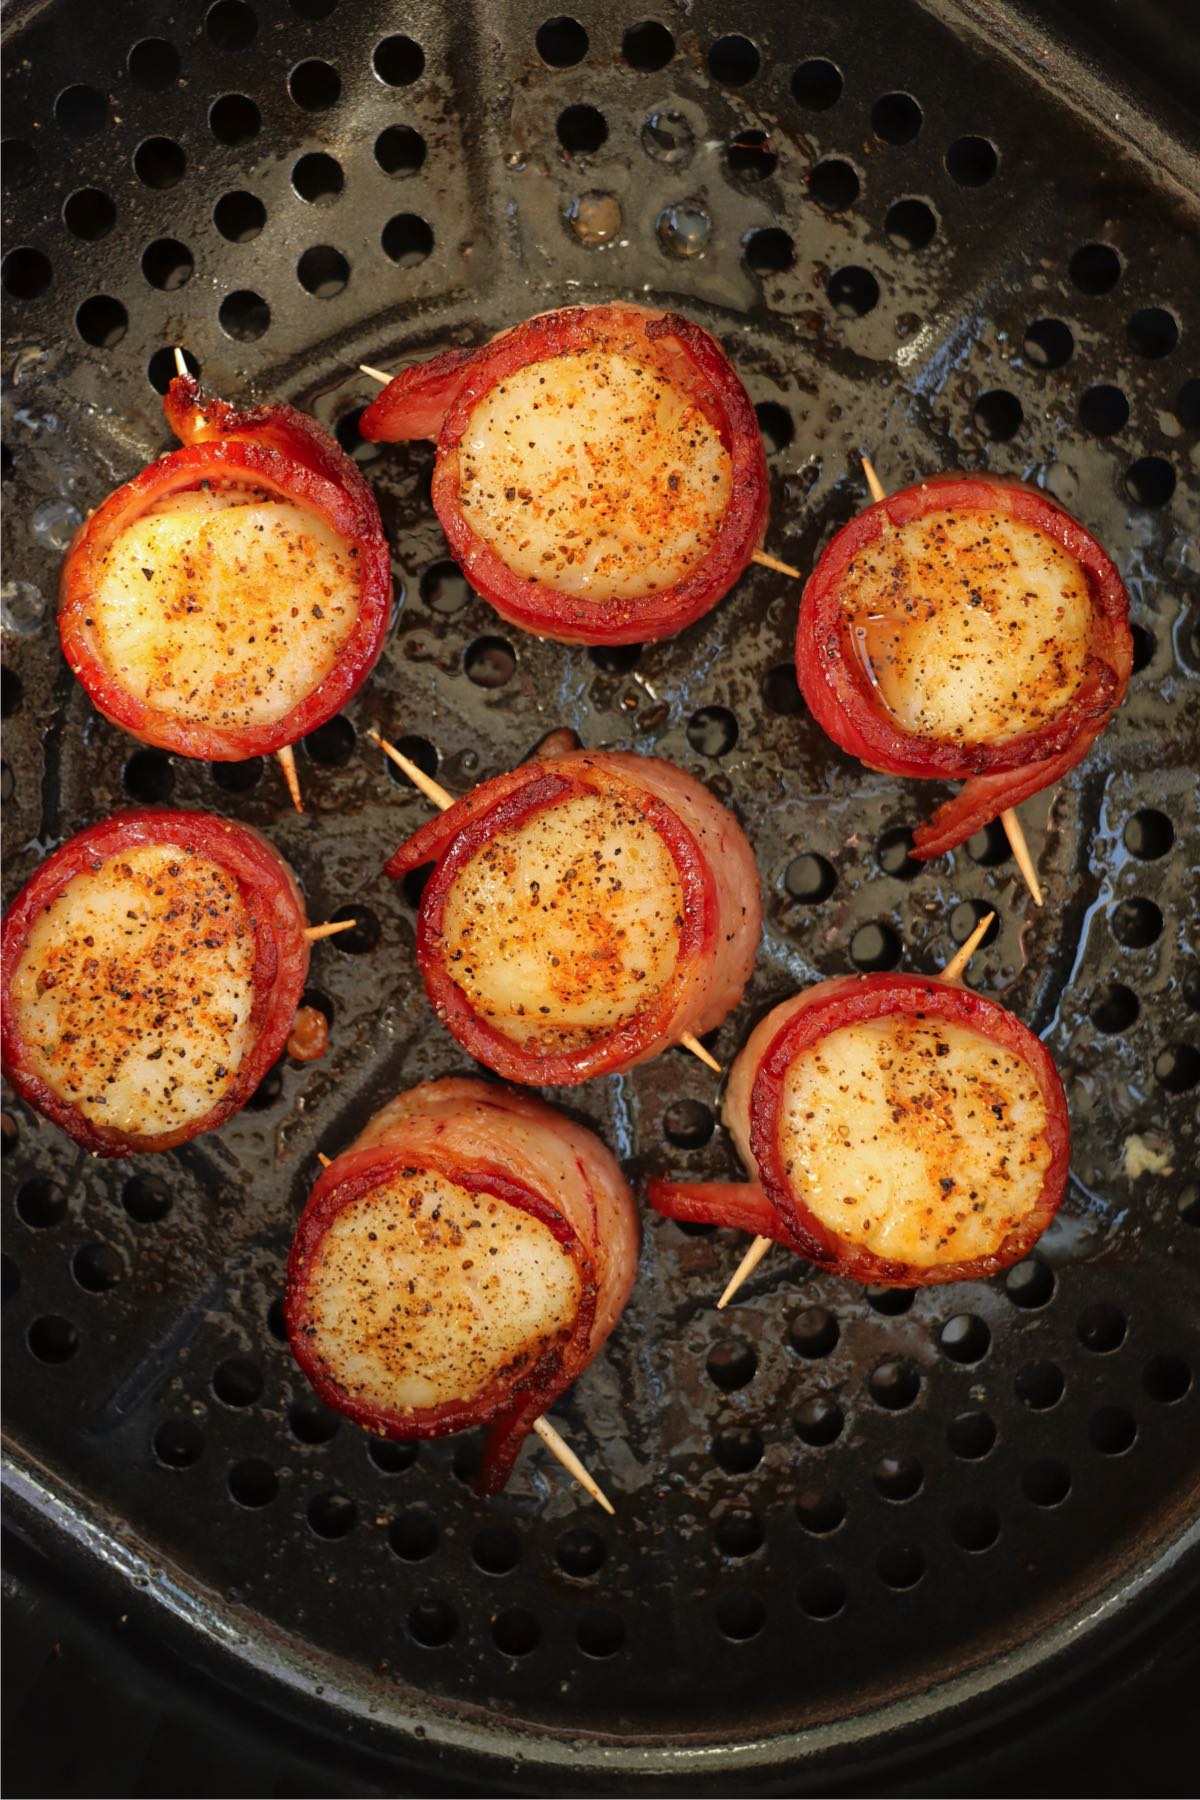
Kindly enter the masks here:
[[246, 1103], [308, 976], [304, 902], [264, 837], [124, 812], [70, 837], [4, 920], [4, 1073], [95, 1156], [169, 1150]]

